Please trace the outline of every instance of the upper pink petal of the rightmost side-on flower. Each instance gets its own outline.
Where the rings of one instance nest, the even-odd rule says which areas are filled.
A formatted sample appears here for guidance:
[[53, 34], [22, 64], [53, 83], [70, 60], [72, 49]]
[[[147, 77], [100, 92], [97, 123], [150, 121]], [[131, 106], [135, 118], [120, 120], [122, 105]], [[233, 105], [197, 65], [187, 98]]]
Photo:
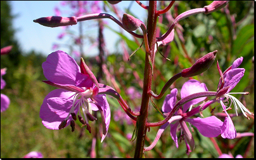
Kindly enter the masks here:
[[230, 86], [229, 89], [227, 89], [227, 93], [231, 91], [236, 84], [239, 83], [241, 78], [243, 77], [245, 73], [245, 69], [243, 68], [236, 68], [236, 69], [231, 69], [230, 71], [227, 71], [226, 74], [224, 74], [224, 87]]

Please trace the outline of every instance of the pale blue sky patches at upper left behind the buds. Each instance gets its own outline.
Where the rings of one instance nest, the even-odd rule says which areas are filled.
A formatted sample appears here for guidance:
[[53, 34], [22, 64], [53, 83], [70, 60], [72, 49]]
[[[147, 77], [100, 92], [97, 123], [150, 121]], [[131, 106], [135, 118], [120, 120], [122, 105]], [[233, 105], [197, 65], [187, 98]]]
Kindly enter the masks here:
[[[122, 1], [118, 3], [118, 8], [124, 11], [124, 8], [129, 6], [131, 1]], [[58, 40], [58, 35], [61, 33], [61, 28], [48, 28], [38, 23], [34, 23], [33, 20], [41, 18], [44, 16], [53, 16], [54, 7], [60, 6], [60, 1], [10, 1], [11, 4], [11, 13], [13, 15], [18, 15], [13, 21], [13, 27], [17, 30], [15, 37], [20, 43], [20, 47], [24, 52], [29, 52], [30, 50], [35, 50], [36, 52], [41, 52], [44, 55], [48, 55], [55, 50], [52, 50], [53, 43], [64, 43], [66, 41]], [[143, 4], [146, 4], [143, 2]], [[146, 11], [141, 8], [137, 3], [132, 4], [132, 13], [136, 15], [136, 18], [140, 20], [146, 16]], [[113, 14], [113, 16], [115, 16]], [[115, 16], [116, 17], [116, 16]], [[117, 31], [120, 31], [118, 25], [113, 23], [112, 20], [106, 19], [108, 25], [114, 28]], [[78, 25], [72, 27], [78, 28]], [[98, 35], [98, 31], [92, 31], [90, 33], [92, 36]], [[105, 28], [104, 32], [105, 43], [107, 50], [111, 53], [116, 50], [115, 42], [117, 41], [117, 35], [113, 31]], [[126, 35], [126, 33], [125, 33]], [[129, 35], [127, 33], [127, 35]], [[84, 50], [88, 49], [89, 46], [86, 46]], [[60, 47], [60, 50], [68, 52], [69, 49], [66, 47]], [[94, 56], [98, 54], [98, 50], [90, 50], [86, 52], [86, 55]]]

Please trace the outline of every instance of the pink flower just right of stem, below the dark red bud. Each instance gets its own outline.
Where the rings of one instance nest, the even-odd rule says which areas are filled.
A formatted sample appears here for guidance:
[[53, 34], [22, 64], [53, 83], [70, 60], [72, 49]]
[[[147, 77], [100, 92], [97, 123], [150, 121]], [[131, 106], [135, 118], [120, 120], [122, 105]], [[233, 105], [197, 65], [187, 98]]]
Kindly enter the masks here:
[[[199, 92], [204, 92], [204, 91], [208, 91], [208, 89], [204, 83], [200, 83], [199, 81], [196, 81], [194, 79], [189, 80], [186, 83], [184, 83], [181, 88], [181, 98], [184, 98], [193, 93], [199, 93]], [[170, 94], [168, 94], [166, 96], [165, 100], [163, 101], [163, 106], [162, 106], [162, 111], [164, 112], [163, 113], [164, 115], [168, 115], [169, 112], [172, 110], [172, 108], [174, 108], [174, 105], [176, 104], [176, 96], [177, 96], [176, 88], [172, 89], [172, 91], [170, 91]], [[170, 135], [171, 135], [172, 139], [174, 140], [176, 147], [179, 147], [178, 140], [177, 140], [177, 128], [179, 125], [181, 125], [181, 129], [182, 129], [182, 132], [184, 133], [184, 137], [185, 137], [185, 142], [188, 147], [187, 153], [191, 152], [190, 148], [193, 150], [193, 148], [195, 147], [195, 142], [193, 140], [193, 137], [192, 137], [186, 123], [184, 123], [184, 122], [189, 122], [192, 125], [194, 125], [198, 129], [198, 131], [205, 137], [217, 137], [218, 135], [221, 134], [221, 127], [222, 127], [223, 123], [217, 117], [211, 116], [211, 117], [207, 117], [207, 118], [199, 118], [199, 117], [198, 118], [188, 118], [188, 117], [195, 115], [195, 113], [198, 113], [198, 111], [199, 111], [198, 107], [194, 108], [195, 110], [193, 109], [193, 110], [185, 113], [190, 106], [195, 105], [195, 104], [199, 103], [200, 101], [205, 100], [205, 98], [206, 97], [197, 98], [195, 100], [191, 100], [188, 103], [186, 103], [183, 106], [182, 110], [179, 109], [174, 114], [174, 115], [181, 115], [182, 119], [176, 123], [173, 123], [173, 124], [170, 123]], [[165, 126], [162, 125], [162, 127], [165, 127]], [[189, 146], [188, 146], [188, 144], [189, 144]]]

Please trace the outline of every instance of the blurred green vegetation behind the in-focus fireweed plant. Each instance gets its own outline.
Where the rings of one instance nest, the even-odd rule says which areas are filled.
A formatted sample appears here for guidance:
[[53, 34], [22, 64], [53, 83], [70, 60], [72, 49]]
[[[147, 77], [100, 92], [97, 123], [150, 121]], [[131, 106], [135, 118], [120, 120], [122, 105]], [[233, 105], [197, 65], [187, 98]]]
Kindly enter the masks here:
[[[176, 1], [169, 13], [176, 17], [188, 9], [202, 8], [211, 2]], [[169, 4], [169, 1], [161, 1], [158, 4], [158, 9], [163, 9]], [[133, 3], [132, 5], [138, 4]], [[127, 6], [126, 13], [132, 14], [129, 11], [129, 7], [132, 5]], [[110, 11], [113, 16], [118, 17], [114, 6], [111, 4], [105, 2], [105, 9]], [[6, 94], [11, 100], [9, 108], [1, 113], [1, 157], [23, 157], [30, 151], [40, 151], [44, 157], [91, 157], [93, 137], [97, 137], [96, 157], [133, 157], [135, 141], [130, 141], [127, 134], [132, 134], [135, 123], [125, 121], [125, 114], [122, 114], [124, 111], [121, 110], [117, 100], [110, 96], [107, 98], [112, 110], [112, 120], [108, 137], [103, 143], [99, 141], [99, 133], [101, 132], [99, 115], [99, 120], [91, 122], [92, 134], [81, 128], [80, 124], [76, 125], [75, 132], [71, 132], [70, 127], [62, 130], [49, 130], [42, 125], [41, 118], [39, 118], [42, 101], [55, 88], [42, 83], [42, 80], [46, 78], [42, 72], [41, 64], [46, 60], [46, 57], [34, 51], [21, 52], [19, 40], [14, 38], [16, 31], [13, 29], [12, 21], [15, 17], [10, 14], [10, 11], [11, 6], [8, 1], [1, 1], [1, 48], [13, 45], [10, 54], [1, 55], [1, 69], [7, 68], [6, 75], [3, 76], [6, 87], [1, 90], [1, 93]], [[119, 16], [122, 17], [122, 15]], [[159, 30], [157, 34], [159, 37], [167, 31], [172, 19], [170, 15], [162, 14], [158, 20]], [[142, 21], [146, 24], [146, 20]], [[105, 27], [108, 26], [105, 25]], [[118, 30], [113, 30], [113, 33], [120, 35], [120, 40], [117, 40], [119, 52], [105, 54], [101, 65], [99, 63], [100, 56], [84, 57], [84, 59], [95, 75], [101, 75], [97, 73], [103, 72], [103, 76], [99, 77], [101, 83], [115, 88], [131, 108], [138, 110], [141, 103], [140, 96], [134, 98], [132, 96], [135, 94], [128, 92], [131, 87], [134, 87], [133, 89], [142, 93], [145, 51], [143, 48], [139, 49], [128, 61], [125, 53], [131, 54], [136, 50], [141, 40], [138, 38], [129, 39]], [[125, 46], [120, 45], [123, 41]], [[217, 58], [210, 69], [200, 76], [193, 77], [193, 79], [205, 83], [209, 91], [215, 91], [219, 82], [216, 61], [219, 60], [221, 69], [224, 71], [231, 66], [235, 59], [243, 56], [243, 63], [240, 67], [246, 69], [245, 76], [232, 92], [248, 91], [249, 95], [237, 94], [236, 98], [254, 113], [253, 1], [230, 1], [227, 8], [215, 13], [189, 16], [176, 26], [174, 41], [165, 47], [159, 47], [159, 49], [170, 61], [157, 52], [152, 82], [152, 90], [155, 93], [160, 93], [163, 85], [170, 77], [182, 69], [190, 67], [198, 58], [208, 52], [218, 50]], [[170, 87], [178, 89], [178, 99], [182, 84], [188, 79], [178, 79]], [[169, 93], [170, 90], [165, 95]], [[163, 100], [164, 98], [154, 100], [160, 109]], [[207, 111], [204, 111], [204, 116], [210, 116], [210, 110], [217, 105], [219, 104], [214, 104]], [[221, 107], [216, 107], [212, 115], [221, 112], [221, 110]], [[238, 112], [240, 113], [241, 110], [238, 109]], [[149, 113], [150, 122], [163, 119], [152, 105]], [[234, 113], [234, 110], [229, 111], [229, 113]], [[97, 113], [95, 116], [97, 117]], [[254, 133], [254, 117], [247, 120], [242, 115], [232, 119], [237, 132]], [[223, 121], [224, 118], [221, 120]], [[146, 146], [153, 142], [157, 130], [158, 127], [151, 127], [146, 137]], [[196, 143], [195, 151], [188, 156], [184, 141], [179, 143], [177, 149], [170, 137], [170, 131], [167, 129], [163, 132], [157, 146], [151, 151], [145, 152], [145, 157], [218, 157], [219, 154], [213, 142], [218, 144], [223, 153], [231, 152], [234, 157], [237, 154], [244, 157], [254, 157], [254, 137], [229, 140], [219, 136], [212, 140], [203, 137], [196, 129], [193, 132], [193, 137]]]

